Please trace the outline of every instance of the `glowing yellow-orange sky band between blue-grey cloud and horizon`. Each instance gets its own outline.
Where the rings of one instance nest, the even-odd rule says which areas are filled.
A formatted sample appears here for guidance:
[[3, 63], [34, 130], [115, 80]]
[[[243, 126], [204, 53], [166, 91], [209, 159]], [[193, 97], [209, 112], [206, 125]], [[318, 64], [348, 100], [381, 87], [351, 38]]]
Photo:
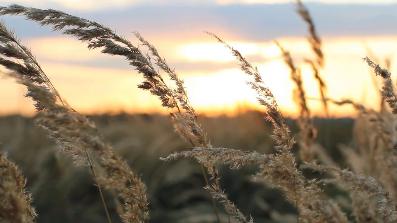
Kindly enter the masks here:
[[[109, 26], [112, 27], [111, 24]], [[285, 115], [297, 115], [298, 109], [292, 101], [294, 84], [289, 79], [289, 69], [272, 41], [246, 40], [216, 24], [212, 24], [208, 31], [214, 31], [258, 67]], [[255, 92], [245, 85], [247, 76], [239, 70], [237, 60], [214, 38], [204, 33], [183, 31], [168, 35], [155, 35], [156, 31], [146, 33], [149, 35], [145, 36], [145, 32], [142, 35], [156, 46], [170, 66], [175, 66], [179, 76], [185, 80], [189, 100], [198, 113], [233, 114], [241, 106], [260, 108], [256, 103]], [[132, 34], [125, 36], [137, 43]], [[277, 40], [291, 51], [295, 62], [302, 68], [307, 96], [318, 98], [318, 84], [309, 67], [302, 62], [303, 57], [313, 57], [306, 38], [279, 37]], [[328, 85], [330, 97], [336, 100], [352, 99], [377, 108], [377, 90], [371, 83], [370, 69], [361, 60], [366, 56], [364, 43], [383, 60], [395, 55], [396, 36], [325, 36], [322, 40], [326, 67], [321, 75]], [[22, 43], [32, 49], [61, 96], [76, 110], [86, 113], [166, 112], [155, 96], [137, 88], [143, 79], [123, 58], [111, 58], [100, 54], [100, 50], [89, 51], [85, 43], [62, 35], [23, 38]], [[396, 62], [392, 59], [391, 72]], [[95, 67], [93, 61], [111, 64]], [[0, 83], [2, 114], [33, 114], [31, 102], [22, 97], [23, 90], [12, 80]], [[309, 106], [314, 115], [324, 115], [319, 102], [309, 101]], [[350, 106], [330, 108], [334, 117], [355, 114]]]

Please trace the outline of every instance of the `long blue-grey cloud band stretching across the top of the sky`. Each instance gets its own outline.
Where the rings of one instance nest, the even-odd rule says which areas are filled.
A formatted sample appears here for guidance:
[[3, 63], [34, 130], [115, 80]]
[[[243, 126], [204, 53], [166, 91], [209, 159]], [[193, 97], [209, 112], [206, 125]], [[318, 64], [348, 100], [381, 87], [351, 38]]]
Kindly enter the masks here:
[[[397, 19], [397, 4], [308, 3], [307, 6], [322, 37], [397, 35], [397, 30], [391, 28]], [[307, 35], [306, 24], [295, 13], [294, 4], [152, 5], [118, 10], [110, 7], [103, 12], [67, 12], [106, 24], [122, 35], [131, 36], [132, 31], [139, 31], [145, 38], [161, 37], [175, 42], [204, 40], [203, 31], [250, 42]], [[50, 33], [49, 27], [40, 28], [21, 17], [3, 19], [21, 38], [59, 35]]]

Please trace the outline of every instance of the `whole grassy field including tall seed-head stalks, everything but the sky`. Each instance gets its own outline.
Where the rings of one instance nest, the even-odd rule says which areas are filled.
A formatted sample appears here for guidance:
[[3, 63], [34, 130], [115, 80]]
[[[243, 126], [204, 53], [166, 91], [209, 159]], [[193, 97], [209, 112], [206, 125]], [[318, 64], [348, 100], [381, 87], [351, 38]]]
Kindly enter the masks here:
[[301, 1], [297, 12], [316, 55], [306, 63], [318, 83], [317, 100], [327, 117], [332, 103], [353, 106], [357, 119], [313, 117], [301, 70], [278, 42], [295, 83], [299, 118], [284, 117], [258, 69], [214, 33], [207, 34], [235, 56], [266, 111], [205, 117], [190, 104], [183, 80], [139, 33], [135, 37], [148, 54], [93, 21], [56, 10], [0, 7], [0, 15], [23, 15], [90, 49], [124, 57], [145, 79], [138, 88], [170, 110], [170, 115], [79, 113], [33, 52], [1, 23], [2, 75], [27, 88], [37, 115], [0, 119], [0, 221], [396, 222], [397, 94], [389, 60], [379, 65], [363, 58], [371, 75], [380, 76], [374, 79], [379, 110], [332, 100], [321, 77], [320, 37]]

